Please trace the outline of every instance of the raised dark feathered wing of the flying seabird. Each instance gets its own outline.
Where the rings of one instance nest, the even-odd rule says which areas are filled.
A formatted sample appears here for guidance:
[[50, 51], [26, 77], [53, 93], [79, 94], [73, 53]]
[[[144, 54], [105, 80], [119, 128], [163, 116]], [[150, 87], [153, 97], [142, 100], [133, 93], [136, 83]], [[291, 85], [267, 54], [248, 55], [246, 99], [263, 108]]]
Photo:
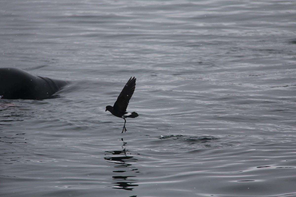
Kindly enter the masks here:
[[117, 101], [114, 103], [113, 108], [116, 111], [125, 112], [128, 107], [128, 102], [133, 95], [136, 87], [136, 78], [133, 77], [128, 80], [126, 85], [123, 87], [120, 95], [117, 98]]

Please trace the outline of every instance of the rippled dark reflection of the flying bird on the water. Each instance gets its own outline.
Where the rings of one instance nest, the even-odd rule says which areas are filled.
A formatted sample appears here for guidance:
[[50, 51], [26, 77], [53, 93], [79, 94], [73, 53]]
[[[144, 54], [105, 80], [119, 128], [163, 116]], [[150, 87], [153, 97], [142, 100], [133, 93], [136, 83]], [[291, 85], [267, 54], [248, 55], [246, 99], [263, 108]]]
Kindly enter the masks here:
[[[121, 138], [121, 141], [123, 141], [123, 139]], [[124, 189], [124, 190], [133, 190], [134, 187], [138, 186], [134, 183], [137, 183], [137, 179], [136, 176], [128, 176], [127, 174], [130, 175], [131, 172], [133, 173], [138, 173], [138, 169], [136, 169], [131, 162], [136, 162], [138, 159], [133, 158], [133, 156], [131, 156], [131, 153], [129, 152], [129, 150], [126, 149], [126, 142], [123, 142], [122, 150], [119, 151], [105, 151], [106, 154], [105, 155], [110, 155], [109, 157], [104, 157], [104, 159], [107, 160], [107, 162], [111, 162], [116, 164], [115, 166], [111, 166], [111, 167], [115, 167], [115, 168], [125, 168], [128, 167], [128, 169], [122, 169], [122, 170], [115, 170], [113, 172], [115, 173], [124, 173], [123, 175], [126, 176], [120, 176], [121, 174], [117, 174], [117, 176], [112, 176], [112, 180], [114, 180], [114, 182], [111, 182], [112, 186], [107, 186], [106, 188], [114, 188], [114, 189]], [[131, 169], [133, 168], [133, 169]]]

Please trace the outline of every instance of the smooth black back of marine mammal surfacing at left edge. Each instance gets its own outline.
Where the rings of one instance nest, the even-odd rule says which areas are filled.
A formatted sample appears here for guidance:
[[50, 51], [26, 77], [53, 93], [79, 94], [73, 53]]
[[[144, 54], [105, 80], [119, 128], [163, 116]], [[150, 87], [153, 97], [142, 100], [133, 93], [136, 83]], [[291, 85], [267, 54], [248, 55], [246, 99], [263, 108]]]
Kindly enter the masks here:
[[0, 97], [2, 99], [46, 99], [67, 83], [63, 80], [34, 76], [17, 68], [0, 68]]

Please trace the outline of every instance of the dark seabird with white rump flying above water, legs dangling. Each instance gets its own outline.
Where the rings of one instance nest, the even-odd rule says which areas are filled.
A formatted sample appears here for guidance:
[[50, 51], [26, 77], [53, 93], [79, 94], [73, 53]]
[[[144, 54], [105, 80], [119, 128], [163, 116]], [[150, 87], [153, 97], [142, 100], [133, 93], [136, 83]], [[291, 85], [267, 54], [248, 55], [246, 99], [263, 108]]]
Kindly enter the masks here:
[[122, 128], [124, 132], [126, 132], [126, 118], [136, 118], [139, 115], [136, 112], [128, 113], [126, 112], [126, 108], [128, 107], [128, 102], [131, 99], [131, 96], [133, 95], [133, 92], [135, 91], [136, 87], [136, 78], [133, 77], [128, 80], [126, 85], [123, 87], [122, 91], [120, 92], [116, 102], [114, 103], [113, 107], [108, 105], [106, 106], [105, 111], [110, 111], [113, 115], [123, 118], [124, 119], [124, 125]]

